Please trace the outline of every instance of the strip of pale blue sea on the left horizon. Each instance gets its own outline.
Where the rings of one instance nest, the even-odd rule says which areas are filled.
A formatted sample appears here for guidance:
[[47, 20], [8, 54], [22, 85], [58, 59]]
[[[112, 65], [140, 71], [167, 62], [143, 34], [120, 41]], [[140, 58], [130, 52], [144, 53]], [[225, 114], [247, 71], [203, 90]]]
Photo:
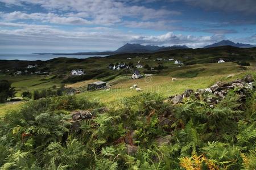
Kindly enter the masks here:
[[0, 59], [19, 59], [27, 61], [42, 60], [46, 61], [52, 58], [67, 57], [67, 58], [89, 58], [89, 57], [106, 57], [102, 55], [53, 55], [53, 54], [0, 54]]

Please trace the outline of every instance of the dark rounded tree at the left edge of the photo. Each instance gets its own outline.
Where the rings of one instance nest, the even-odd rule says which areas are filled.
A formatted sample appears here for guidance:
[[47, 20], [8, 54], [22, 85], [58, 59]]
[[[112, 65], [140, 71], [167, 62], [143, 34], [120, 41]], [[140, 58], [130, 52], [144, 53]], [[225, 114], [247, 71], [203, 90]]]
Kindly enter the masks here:
[[0, 103], [5, 103], [7, 99], [15, 97], [14, 87], [7, 80], [0, 81]]

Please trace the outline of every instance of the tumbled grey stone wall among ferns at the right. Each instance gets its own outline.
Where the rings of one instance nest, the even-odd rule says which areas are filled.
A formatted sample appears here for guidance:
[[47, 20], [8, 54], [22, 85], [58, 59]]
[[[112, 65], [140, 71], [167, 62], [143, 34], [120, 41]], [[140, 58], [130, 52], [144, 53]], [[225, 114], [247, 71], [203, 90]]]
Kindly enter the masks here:
[[[191, 97], [192, 95], [199, 99], [200, 95], [212, 94], [205, 97], [205, 101], [213, 104], [218, 103], [220, 100], [224, 99], [225, 95], [229, 90], [236, 90], [237, 94], [240, 95], [241, 99], [245, 99], [245, 92], [248, 90], [253, 90], [255, 88], [253, 76], [248, 74], [243, 79], [233, 80], [231, 82], [217, 82], [209, 88], [198, 89], [195, 92], [193, 90], [185, 90], [183, 94], [169, 97], [169, 101], [173, 104], [178, 104], [183, 101], [185, 97]], [[214, 97], [215, 96], [215, 97]]]

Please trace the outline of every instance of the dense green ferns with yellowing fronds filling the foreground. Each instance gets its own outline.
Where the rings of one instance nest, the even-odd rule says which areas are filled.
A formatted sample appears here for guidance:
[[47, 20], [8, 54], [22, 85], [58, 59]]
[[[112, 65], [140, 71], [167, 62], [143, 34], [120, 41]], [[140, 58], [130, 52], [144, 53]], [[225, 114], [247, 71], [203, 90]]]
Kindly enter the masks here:
[[[255, 169], [255, 88], [246, 91], [245, 100], [239, 94], [230, 90], [214, 107], [206, 96], [172, 105], [152, 93], [109, 104], [76, 96], [28, 101], [0, 122], [0, 166]], [[92, 116], [75, 121], [75, 110]]]

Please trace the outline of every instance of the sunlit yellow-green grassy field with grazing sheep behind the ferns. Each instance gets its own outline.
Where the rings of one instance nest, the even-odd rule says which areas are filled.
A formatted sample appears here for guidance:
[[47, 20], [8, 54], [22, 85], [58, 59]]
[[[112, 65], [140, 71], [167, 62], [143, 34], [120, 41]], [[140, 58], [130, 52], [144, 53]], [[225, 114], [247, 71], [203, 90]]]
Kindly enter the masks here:
[[[199, 71], [198, 71], [199, 70]], [[228, 75], [232, 78], [226, 78]], [[133, 84], [138, 84], [144, 92], [158, 92], [165, 97], [181, 94], [186, 89], [196, 90], [197, 88], [206, 88], [217, 81], [241, 78], [246, 74], [256, 76], [255, 67], [241, 67], [236, 63], [210, 63], [193, 66], [180, 67], [178, 70], [171, 71], [163, 75], [152, 75], [141, 79], [130, 79], [129, 77], [119, 77], [109, 82], [113, 84], [109, 91], [85, 91], [77, 95], [79, 97], [88, 97], [102, 102], [110, 102], [122, 99], [126, 96], [137, 95], [139, 92], [130, 89]], [[180, 76], [177, 76], [180, 75]], [[193, 76], [191, 76], [193, 75]], [[178, 80], [172, 82], [171, 78]], [[81, 83], [83, 84], [83, 83]], [[86, 84], [86, 82], [84, 82]], [[72, 84], [69, 85], [72, 87]], [[74, 86], [75, 87], [75, 86]]]

